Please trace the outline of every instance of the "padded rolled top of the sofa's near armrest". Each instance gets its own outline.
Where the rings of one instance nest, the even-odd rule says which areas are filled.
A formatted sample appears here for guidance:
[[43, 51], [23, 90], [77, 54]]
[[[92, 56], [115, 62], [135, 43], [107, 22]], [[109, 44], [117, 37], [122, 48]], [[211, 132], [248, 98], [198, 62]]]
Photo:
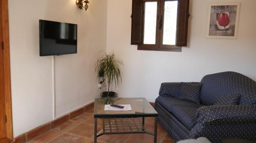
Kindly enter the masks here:
[[256, 105], [201, 106], [198, 123], [246, 122], [256, 120]]

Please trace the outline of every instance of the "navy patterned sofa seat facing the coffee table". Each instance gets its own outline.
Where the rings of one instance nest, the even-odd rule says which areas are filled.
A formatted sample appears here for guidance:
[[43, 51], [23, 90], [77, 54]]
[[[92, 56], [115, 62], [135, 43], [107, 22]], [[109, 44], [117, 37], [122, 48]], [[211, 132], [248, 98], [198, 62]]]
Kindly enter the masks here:
[[197, 123], [197, 109], [202, 106], [197, 103], [184, 101], [174, 97], [159, 96], [156, 102], [172, 112], [188, 130], [191, 130]]

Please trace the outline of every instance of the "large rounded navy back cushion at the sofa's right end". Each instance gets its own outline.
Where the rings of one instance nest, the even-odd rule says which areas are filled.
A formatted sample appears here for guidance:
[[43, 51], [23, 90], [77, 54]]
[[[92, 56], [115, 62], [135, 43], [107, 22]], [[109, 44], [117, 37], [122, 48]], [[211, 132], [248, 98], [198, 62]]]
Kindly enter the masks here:
[[201, 103], [214, 105], [216, 98], [241, 95], [240, 104], [256, 104], [256, 82], [237, 72], [222, 72], [203, 77]]

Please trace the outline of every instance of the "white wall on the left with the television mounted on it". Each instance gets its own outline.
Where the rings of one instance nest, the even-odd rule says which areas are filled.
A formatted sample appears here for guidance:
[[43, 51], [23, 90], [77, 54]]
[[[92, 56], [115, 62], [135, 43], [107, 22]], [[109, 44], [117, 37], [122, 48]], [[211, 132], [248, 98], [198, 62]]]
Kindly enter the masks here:
[[94, 65], [106, 47], [106, 1], [9, 0], [14, 137], [53, 120], [52, 56], [39, 56], [38, 19], [78, 24], [78, 53], [56, 56], [56, 116], [98, 96]]

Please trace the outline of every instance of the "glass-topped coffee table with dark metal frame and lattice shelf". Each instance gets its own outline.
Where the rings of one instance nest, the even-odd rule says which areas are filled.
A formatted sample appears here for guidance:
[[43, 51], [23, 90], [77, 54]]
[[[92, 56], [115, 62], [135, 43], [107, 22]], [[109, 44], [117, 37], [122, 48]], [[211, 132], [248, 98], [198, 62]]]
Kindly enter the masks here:
[[[114, 104], [131, 104], [130, 111], [104, 110], [104, 98], [95, 98], [94, 102], [94, 142], [104, 134], [147, 133], [157, 142], [157, 111], [145, 98], [112, 98]], [[145, 130], [145, 117], [155, 117], [154, 133]], [[98, 133], [97, 121], [102, 119], [103, 131]]]

